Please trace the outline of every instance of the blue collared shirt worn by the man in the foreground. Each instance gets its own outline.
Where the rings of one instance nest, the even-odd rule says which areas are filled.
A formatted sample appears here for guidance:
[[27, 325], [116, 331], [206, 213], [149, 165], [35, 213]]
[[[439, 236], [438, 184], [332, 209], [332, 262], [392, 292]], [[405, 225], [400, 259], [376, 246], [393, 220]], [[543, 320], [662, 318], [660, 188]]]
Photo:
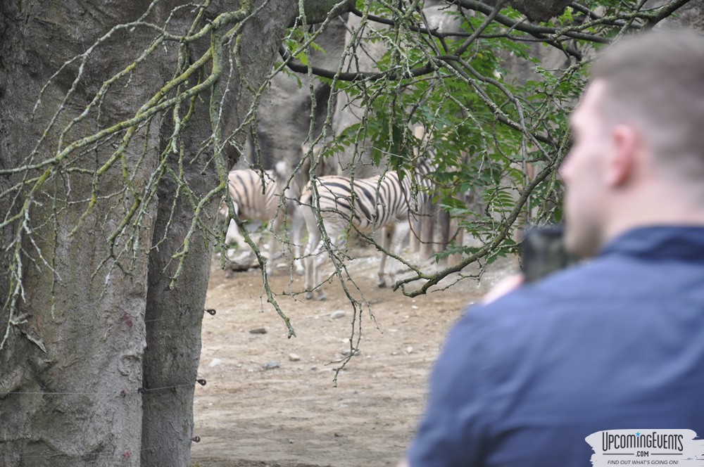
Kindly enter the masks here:
[[601, 430], [704, 437], [704, 226], [634, 229], [455, 324], [412, 467], [590, 466]]

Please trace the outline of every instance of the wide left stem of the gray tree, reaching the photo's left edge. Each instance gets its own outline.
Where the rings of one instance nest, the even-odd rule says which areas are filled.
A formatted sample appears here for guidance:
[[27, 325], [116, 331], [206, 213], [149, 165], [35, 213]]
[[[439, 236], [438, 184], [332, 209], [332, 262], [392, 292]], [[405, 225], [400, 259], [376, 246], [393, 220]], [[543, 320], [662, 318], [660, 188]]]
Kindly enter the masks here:
[[[142, 13], [142, 1], [122, 2], [101, 11], [102, 2], [16, 1], [0, 4], [0, 168], [27, 164], [51, 116], [72, 87], [78, 66], [70, 65], [46, 89], [32, 118], [39, 91], [61, 65], [83, 53], [115, 23]], [[139, 7], [139, 8], [135, 8]], [[108, 14], [109, 13], [109, 14]], [[84, 79], [65, 103], [66, 112], [46, 133], [32, 162], [56, 154], [58, 132], [80, 115], [104, 77], [117, 72], [108, 53], [129, 57], [144, 41], [144, 30], [117, 32], [86, 62]], [[132, 115], [153, 92], [144, 73], [136, 70], [129, 93], [106, 98], [101, 115], [79, 124], [65, 136], [68, 143]], [[155, 122], [156, 123], [156, 122]], [[125, 152], [126, 169], [134, 171], [135, 188], [144, 187], [158, 155], [158, 123], [135, 134]], [[113, 143], [75, 155], [70, 163], [95, 171], [113, 151]], [[137, 167], [142, 156], [145, 164]], [[68, 162], [68, 161], [66, 161]], [[54, 167], [54, 175], [63, 167]], [[25, 179], [37, 183], [44, 168], [3, 176], [7, 188]], [[119, 466], [139, 459], [142, 426], [142, 354], [146, 343], [145, 255], [118, 260], [108, 238], [127, 215], [130, 196], [109, 197], [122, 185], [122, 169], [108, 170], [100, 179], [98, 203], [71, 231], [87, 208], [92, 188], [89, 172], [63, 172], [39, 186], [29, 211], [24, 241], [17, 255], [23, 263], [23, 294], [18, 309], [6, 307], [8, 263], [0, 274], [4, 290], [1, 333], [8, 338], [0, 352], [0, 464], [2, 466]], [[28, 190], [23, 191], [25, 196]], [[8, 205], [1, 213], [16, 212]], [[7, 217], [5, 217], [7, 219]], [[151, 218], [145, 217], [135, 241], [149, 248]], [[18, 223], [4, 231], [3, 248], [18, 234]], [[115, 255], [124, 244], [115, 245]], [[41, 252], [41, 256], [40, 253]], [[124, 271], [118, 267], [118, 261]], [[17, 264], [15, 264], [15, 272]], [[54, 272], [52, 272], [52, 270]], [[20, 324], [24, 321], [23, 324]], [[1, 337], [1, 336], [0, 336]]]

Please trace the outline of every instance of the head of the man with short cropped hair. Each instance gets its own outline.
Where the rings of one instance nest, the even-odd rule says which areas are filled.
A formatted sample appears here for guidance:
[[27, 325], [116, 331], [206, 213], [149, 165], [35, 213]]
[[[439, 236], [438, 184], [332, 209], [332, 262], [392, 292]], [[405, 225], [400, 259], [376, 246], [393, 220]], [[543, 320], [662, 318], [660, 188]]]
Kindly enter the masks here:
[[627, 229], [704, 224], [704, 37], [649, 32], [593, 65], [560, 169], [567, 248], [596, 254]]

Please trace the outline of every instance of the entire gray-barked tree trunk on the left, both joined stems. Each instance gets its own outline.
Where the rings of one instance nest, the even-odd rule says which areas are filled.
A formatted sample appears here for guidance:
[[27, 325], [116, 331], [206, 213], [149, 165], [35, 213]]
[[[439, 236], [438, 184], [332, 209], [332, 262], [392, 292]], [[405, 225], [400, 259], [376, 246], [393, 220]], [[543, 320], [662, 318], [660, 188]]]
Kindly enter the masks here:
[[[137, 20], [150, 3], [0, 4], [0, 170], [37, 164], [57, 153], [61, 129], [81, 115], [106, 79], [139, 56], [155, 32], [148, 27], [115, 30], [90, 51], [77, 86], [80, 61], [53, 78], [32, 115], [42, 87], [63, 63], [89, 51], [115, 25]], [[254, 8], [261, 3], [255, 2]], [[185, 4], [163, 1], [148, 20], [163, 24], [172, 8]], [[237, 8], [235, 1], [213, 2], [207, 15], [214, 18]], [[172, 15], [170, 32], [187, 32], [192, 10], [181, 8]], [[249, 90], [258, 89], [270, 72], [285, 27], [296, 13], [293, 2], [270, 1], [244, 27], [239, 58], [245, 76], [239, 76], [237, 67], [228, 68], [213, 94], [225, 96], [223, 134], [237, 128], [249, 111]], [[192, 56], [197, 58], [209, 40], [191, 44]], [[165, 43], [150, 57], [149, 66], [118, 80], [100, 111], [93, 110], [64, 136], [63, 147], [134, 116], [172, 79], [178, 47]], [[120, 145], [121, 133], [58, 163], [49, 183], [32, 195], [30, 220], [17, 253], [22, 257], [23, 293], [14, 314], [6, 307], [12, 292], [11, 261], [3, 255], [0, 264], [0, 339], [8, 321], [14, 323], [0, 350], [1, 466], [189, 465], [192, 397], [212, 249], [203, 233], [191, 237], [182, 275], [175, 288], [169, 285], [177, 267], [173, 256], [182, 248], [194, 217], [191, 201], [220, 183], [213, 148], [203, 148], [212, 132], [210, 96], [208, 89], [196, 98], [192, 124], [183, 130], [187, 163], [180, 165], [174, 154], [167, 156], [172, 160], [158, 182], [157, 196], [149, 200], [139, 224], [128, 229], [134, 243], [118, 237], [111, 248], [110, 238], [130, 216], [132, 193], [144, 191], [162, 160], [166, 137], [173, 130], [171, 110], [139, 127], [125, 148], [124, 165], [118, 162], [101, 174], [99, 202], [88, 215], [84, 212], [94, 172]], [[62, 113], [42, 139], [58, 108]], [[35, 146], [38, 150], [28, 160]], [[232, 148], [225, 148], [230, 162], [237, 157]], [[68, 172], [67, 167], [83, 171]], [[0, 174], [1, 191], [23, 180], [32, 186], [44, 168]], [[124, 190], [123, 169], [132, 174], [134, 191]], [[179, 182], [173, 174], [181, 174]], [[20, 210], [27, 191], [14, 200], [0, 198], [0, 223]], [[207, 221], [216, 204], [213, 200], [199, 215]], [[80, 228], [73, 231], [81, 218]], [[18, 235], [17, 225], [0, 231], [3, 248]]]

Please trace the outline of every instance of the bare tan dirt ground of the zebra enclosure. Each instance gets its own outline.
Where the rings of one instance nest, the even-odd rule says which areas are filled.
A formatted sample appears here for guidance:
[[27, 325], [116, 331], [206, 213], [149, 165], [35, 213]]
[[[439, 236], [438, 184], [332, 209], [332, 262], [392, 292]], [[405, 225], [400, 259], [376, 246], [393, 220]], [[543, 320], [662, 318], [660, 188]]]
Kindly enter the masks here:
[[[373, 253], [370, 251], [369, 255]], [[280, 264], [285, 266], [285, 264]], [[429, 369], [448, 327], [510, 270], [494, 267], [482, 284], [456, 283], [418, 298], [375, 285], [377, 257], [349, 270], [368, 307], [353, 312], [339, 283], [328, 300], [308, 301], [303, 277], [270, 276], [296, 337], [266, 302], [258, 269], [223, 271], [214, 260], [203, 320], [192, 466], [394, 466], [425, 406]], [[375, 320], [370, 319], [370, 313]], [[339, 316], [342, 315], [342, 316]], [[339, 372], [350, 337], [361, 340]]]

